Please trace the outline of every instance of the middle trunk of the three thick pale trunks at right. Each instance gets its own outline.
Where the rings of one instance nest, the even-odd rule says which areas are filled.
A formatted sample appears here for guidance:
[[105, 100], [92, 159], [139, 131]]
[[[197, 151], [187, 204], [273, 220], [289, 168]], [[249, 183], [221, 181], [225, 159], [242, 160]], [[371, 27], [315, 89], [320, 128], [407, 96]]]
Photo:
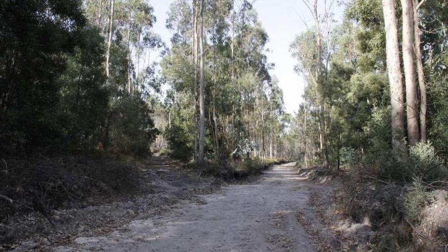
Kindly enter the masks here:
[[411, 146], [420, 140], [418, 131], [417, 80], [414, 64], [414, 8], [413, 0], [401, 0], [403, 11], [403, 67], [406, 80], [406, 118], [408, 142]]

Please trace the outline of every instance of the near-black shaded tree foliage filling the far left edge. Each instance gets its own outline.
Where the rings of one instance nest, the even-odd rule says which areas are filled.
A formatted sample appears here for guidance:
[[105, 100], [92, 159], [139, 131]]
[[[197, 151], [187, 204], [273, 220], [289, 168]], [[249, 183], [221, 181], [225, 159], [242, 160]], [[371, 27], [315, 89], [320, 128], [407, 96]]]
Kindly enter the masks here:
[[60, 145], [58, 77], [83, 36], [81, 2], [2, 2], [0, 21], [0, 152]]

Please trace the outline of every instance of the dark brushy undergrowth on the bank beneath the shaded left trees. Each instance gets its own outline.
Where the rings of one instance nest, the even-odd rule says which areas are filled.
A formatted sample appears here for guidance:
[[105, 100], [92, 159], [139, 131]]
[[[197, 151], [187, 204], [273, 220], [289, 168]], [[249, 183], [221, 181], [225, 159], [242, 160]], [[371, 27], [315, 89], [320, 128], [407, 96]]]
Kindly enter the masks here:
[[0, 219], [29, 211], [46, 216], [89, 197], [110, 199], [138, 189], [137, 168], [129, 161], [86, 156], [1, 161]]

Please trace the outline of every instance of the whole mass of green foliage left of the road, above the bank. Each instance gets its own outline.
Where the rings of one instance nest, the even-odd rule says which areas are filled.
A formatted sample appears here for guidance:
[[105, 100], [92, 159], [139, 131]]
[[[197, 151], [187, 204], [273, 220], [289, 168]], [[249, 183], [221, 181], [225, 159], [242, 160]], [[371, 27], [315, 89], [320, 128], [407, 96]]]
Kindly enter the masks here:
[[[138, 47], [161, 48], [149, 30], [155, 21], [152, 7], [133, 0], [126, 9], [124, 2], [116, 2], [116, 17], [133, 18], [130, 40], [139, 44], [137, 33], [143, 33]], [[94, 4], [86, 8], [96, 18]], [[102, 151], [101, 146], [117, 154], [149, 154], [158, 131], [144, 87], [157, 90], [155, 66], [146, 69], [144, 78], [132, 78], [129, 48], [117, 36], [106, 80], [101, 23], [94, 27], [95, 18], [86, 17], [82, 7], [77, 0], [0, 5], [2, 155], [92, 153]], [[123, 26], [117, 31], [123, 32]], [[126, 82], [138, 91], [132, 87], [132, 95], [125, 94]]]

